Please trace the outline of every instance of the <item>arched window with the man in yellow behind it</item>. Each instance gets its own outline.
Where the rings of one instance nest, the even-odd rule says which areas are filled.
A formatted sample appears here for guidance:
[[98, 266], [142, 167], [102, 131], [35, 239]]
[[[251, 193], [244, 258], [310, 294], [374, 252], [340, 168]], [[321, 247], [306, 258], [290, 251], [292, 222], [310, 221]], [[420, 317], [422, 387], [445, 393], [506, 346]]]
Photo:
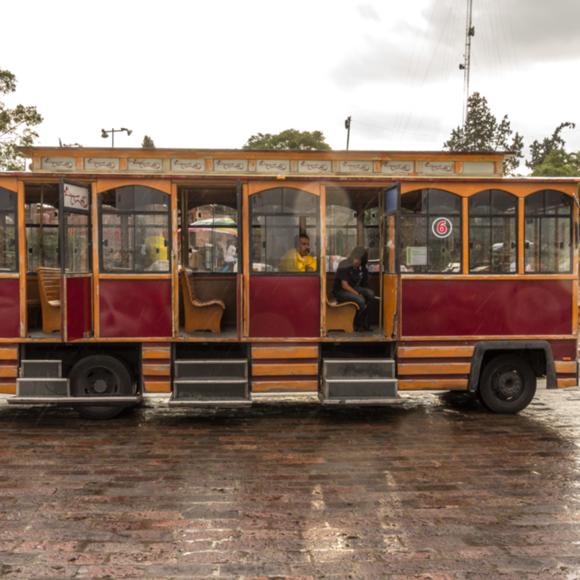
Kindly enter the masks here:
[[251, 198], [253, 272], [318, 270], [318, 198], [277, 188]]

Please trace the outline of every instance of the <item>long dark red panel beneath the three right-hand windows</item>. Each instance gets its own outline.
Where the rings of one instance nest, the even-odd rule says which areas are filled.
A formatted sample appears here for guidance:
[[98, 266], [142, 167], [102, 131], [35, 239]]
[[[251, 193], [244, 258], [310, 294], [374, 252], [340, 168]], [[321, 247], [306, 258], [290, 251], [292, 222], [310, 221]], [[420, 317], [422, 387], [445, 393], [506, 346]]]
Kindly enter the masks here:
[[403, 336], [571, 334], [575, 283], [403, 279]]

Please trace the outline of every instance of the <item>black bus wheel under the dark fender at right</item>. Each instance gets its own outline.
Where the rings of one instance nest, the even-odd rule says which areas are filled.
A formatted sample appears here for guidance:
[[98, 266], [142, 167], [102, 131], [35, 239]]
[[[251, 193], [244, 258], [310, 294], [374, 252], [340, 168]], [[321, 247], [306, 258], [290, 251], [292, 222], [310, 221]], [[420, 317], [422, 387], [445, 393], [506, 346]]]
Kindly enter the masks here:
[[498, 356], [483, 369], [479, 396], [494, 413], [518, 413], [530, 404], [535, 394], [536, 375], [519, 356]]

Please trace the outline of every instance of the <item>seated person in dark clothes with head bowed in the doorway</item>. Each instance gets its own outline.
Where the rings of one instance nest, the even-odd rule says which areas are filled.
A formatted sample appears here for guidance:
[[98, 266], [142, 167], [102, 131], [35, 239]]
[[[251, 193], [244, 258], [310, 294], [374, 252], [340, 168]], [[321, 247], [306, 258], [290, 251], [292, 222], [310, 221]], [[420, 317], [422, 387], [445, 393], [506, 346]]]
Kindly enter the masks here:
[[375, 297], [375, 293], [366, 287], [368, 284], [367, 260], [365, 248], [357, 246], [350, 256], [338, 265], [332, 290], [338, 302], [358, 304], [354, 328], [359, 331], [370, 330], [367, 305]]

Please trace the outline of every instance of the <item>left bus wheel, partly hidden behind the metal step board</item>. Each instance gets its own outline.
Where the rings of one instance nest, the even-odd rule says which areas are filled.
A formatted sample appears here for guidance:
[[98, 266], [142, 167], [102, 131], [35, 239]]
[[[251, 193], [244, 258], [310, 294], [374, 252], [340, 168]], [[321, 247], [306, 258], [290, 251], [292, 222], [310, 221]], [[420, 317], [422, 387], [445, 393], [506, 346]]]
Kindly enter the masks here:
[[[69, 374], [73, 397], [130, 396], [133, 394], [131, 376], [125, 365], [115, 357], [91, 355], [75, 364]], [[112, 419], [123, 411], [117, 405], [79, 405], [77, 411], [87, 419]]]

